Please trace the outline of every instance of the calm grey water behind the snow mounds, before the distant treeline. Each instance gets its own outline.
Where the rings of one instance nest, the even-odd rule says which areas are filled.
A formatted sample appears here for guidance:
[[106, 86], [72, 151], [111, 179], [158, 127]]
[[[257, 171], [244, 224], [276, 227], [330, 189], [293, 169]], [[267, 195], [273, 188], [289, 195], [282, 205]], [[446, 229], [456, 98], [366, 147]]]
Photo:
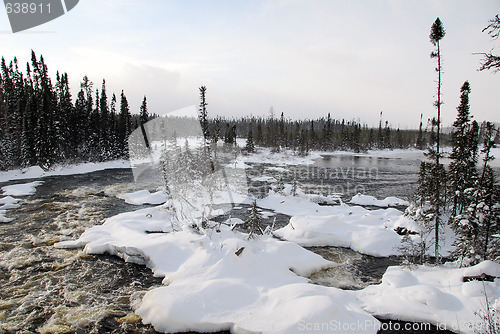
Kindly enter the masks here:
[[[418, 158], [394, 158], [325, 155], [308, 166], [283, 166], [277, 171], [270, 164], [252, 164], [250, 180], [272, 176], [285, 183], [296, 182], [306, 193], [322, 195], [341, 194], [344, 201], [361, 193], [384, 199], [387, 196], [409, 198], [418, 180]], [[251, 182], [256, 189], [266, 187], [262, 182]], [[260, 197], [266, 192], [261, 188]]]

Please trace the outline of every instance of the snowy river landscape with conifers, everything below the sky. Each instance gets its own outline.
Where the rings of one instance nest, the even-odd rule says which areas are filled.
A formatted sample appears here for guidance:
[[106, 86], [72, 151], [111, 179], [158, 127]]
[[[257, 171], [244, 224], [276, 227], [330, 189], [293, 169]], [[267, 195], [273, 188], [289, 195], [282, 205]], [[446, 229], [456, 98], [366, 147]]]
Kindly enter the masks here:
[[208, 84], [136, 114], [2, 57], [0, 333], [500, 333], [498, 116], [468, 80], [444, 109], [445, 24], [415, 127], [221, 116]]

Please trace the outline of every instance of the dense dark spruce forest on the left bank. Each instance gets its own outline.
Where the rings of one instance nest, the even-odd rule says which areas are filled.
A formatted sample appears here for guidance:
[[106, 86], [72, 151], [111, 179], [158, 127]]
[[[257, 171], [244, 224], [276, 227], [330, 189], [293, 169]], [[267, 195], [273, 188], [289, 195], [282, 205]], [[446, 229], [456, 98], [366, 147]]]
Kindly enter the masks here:
[[132, 114], [125, 93], [108, 97], [84, 76], [73, 102], [68, 74], [52, 82], [43, 56], [31, 53], [23, 73], [17, 58], [0, 69], [0, 170], [127, 157], [128, 135], [151, 117], [144, 97]]

